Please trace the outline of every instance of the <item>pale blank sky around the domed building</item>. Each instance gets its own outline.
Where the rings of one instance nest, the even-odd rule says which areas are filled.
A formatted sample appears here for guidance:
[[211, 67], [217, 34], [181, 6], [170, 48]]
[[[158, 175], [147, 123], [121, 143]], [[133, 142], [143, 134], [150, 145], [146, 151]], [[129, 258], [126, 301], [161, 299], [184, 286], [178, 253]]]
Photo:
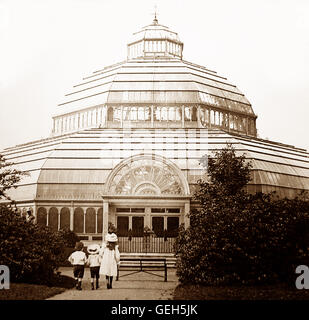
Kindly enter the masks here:
[[309, 150], [308, 0], [0, 0], [0, 152], [47, 138], [64, 95], [125, 60], [155, 6], [185, 60], [245, 94], [260, 138]]

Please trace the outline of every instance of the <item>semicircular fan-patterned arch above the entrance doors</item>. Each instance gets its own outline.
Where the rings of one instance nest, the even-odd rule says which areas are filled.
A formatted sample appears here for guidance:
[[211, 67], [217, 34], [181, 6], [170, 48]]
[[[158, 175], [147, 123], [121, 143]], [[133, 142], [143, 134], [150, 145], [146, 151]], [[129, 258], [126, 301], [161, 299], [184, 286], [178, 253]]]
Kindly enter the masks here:
[[120, 162], [105, 184], [109, 195], [186, 196], [188, 182], [171, 160], [155, 154], [139, 154]]

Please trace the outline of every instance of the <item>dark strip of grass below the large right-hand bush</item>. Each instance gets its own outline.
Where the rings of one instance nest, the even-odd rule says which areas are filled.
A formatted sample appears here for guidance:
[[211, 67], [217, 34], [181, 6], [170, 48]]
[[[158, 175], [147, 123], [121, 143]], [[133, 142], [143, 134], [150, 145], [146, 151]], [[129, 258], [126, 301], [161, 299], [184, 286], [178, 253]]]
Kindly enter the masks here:
[[285, 285], [222, 286], [178, 285], [175, 300], [309, 300], [309, 290]]

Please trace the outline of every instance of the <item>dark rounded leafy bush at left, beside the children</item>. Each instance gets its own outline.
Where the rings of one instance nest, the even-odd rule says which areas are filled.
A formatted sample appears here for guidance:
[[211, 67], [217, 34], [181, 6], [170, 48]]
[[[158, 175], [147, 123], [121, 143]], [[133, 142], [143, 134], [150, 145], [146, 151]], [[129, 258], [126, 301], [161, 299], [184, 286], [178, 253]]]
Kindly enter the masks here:
[[26, 221], [0, 206], [0, 264], [10, 268], [12, 281], [48, 284], [63, 260], [62, 234]]

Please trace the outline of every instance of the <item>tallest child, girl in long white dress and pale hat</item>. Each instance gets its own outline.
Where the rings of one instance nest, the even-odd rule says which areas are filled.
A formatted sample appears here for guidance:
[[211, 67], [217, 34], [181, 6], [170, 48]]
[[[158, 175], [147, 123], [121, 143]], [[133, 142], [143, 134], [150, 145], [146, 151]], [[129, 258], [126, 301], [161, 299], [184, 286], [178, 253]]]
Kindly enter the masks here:
[[102, 245], [100, 274], [106, 276], [107, 289], [112, 289], [113, 277], [117, 276], [117, 265], [120, 263], [120, 253], [115, 233], [108, 233]]

